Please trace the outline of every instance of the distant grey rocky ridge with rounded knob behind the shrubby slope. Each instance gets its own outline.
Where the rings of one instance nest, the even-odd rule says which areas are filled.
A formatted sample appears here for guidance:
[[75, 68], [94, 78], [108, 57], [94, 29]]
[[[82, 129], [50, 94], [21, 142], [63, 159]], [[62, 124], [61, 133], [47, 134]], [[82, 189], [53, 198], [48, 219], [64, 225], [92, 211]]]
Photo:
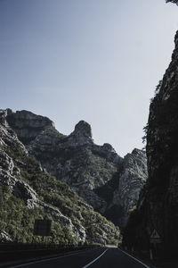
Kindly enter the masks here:
[[79, 121], [75, 130], [65, 136], [46, 117], [28, 111], [13, 113], [10, 109], [7, 113], [8, 123], [29, 155], [68, 183], [95, 210], [125, 226], [147, 176], [142, 151], [134, 150], [123, 159], [111, 145], [95, 145], [91, 126], [85, 121]]

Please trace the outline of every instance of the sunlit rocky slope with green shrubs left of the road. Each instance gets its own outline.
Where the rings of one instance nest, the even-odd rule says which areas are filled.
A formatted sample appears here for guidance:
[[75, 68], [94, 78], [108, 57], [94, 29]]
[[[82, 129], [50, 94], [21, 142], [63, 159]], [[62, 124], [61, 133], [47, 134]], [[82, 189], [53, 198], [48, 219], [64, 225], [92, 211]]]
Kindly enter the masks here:
[[72, 191], [45, 172], [0, 110], [0, 239], [32, 242], [35, 219], [53, 221], [53, 242], [117, 244], [119, 230]]

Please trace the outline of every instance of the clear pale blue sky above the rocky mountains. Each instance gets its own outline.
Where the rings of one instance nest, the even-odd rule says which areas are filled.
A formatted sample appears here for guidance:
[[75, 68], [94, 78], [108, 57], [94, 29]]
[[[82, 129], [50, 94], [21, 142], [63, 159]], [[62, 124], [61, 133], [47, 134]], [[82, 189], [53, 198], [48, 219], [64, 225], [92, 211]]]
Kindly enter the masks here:
[[85, 120], [96, 144], [131, 153], [177, 29], [165, 0], [0, 0], [0, 108], [66, 135]]

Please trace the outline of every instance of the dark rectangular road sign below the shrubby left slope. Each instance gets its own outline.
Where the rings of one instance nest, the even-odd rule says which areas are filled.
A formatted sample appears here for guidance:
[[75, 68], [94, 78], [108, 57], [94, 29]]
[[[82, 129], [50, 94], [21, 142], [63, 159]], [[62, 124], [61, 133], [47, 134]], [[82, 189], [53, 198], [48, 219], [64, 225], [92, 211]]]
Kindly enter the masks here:
[[34, 235], [47, 237], [51, 235], [51, 220], [36, 220], [34, 223]]

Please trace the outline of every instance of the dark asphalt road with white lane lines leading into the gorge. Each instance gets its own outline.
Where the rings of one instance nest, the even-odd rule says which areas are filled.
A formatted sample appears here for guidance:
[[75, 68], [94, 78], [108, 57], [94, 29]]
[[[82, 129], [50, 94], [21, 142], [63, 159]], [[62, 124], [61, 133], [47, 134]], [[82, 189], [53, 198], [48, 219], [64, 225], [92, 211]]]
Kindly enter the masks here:
[[33, 263], [18, 264], [13, 268], [150, 268], [118, 248], [94, 248], [60, 255]]

